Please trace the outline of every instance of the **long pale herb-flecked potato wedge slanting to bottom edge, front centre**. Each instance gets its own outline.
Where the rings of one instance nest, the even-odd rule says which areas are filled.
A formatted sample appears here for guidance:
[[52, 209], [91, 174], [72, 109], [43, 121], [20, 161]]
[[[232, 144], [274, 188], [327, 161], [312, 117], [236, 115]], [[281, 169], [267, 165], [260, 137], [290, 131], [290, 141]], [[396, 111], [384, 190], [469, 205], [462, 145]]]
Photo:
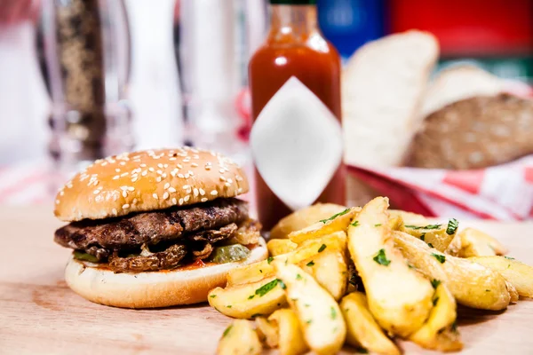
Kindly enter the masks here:
[[311, 275], [293, 264], [273, 262], [286, 285], [290, 308], [296, 312], [307, 345], [317, 354], [334, 354], [346, 338], [346, 324], [337, 302]]

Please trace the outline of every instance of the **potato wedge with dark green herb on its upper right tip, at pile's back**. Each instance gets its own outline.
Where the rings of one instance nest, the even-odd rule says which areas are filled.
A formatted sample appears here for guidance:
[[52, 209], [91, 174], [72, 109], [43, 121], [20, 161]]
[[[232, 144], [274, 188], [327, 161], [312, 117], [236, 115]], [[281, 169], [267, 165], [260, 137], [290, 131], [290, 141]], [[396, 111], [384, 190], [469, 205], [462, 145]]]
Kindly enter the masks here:
[[402, 225], [402, 232], [409, 233], [413, 237], [417, 237], [439, 251], [444, 251], [448, 248], [449, 243], [453, 241], [457, 233], [458, 222], [457, 219], [450, 219], [448, 225]]

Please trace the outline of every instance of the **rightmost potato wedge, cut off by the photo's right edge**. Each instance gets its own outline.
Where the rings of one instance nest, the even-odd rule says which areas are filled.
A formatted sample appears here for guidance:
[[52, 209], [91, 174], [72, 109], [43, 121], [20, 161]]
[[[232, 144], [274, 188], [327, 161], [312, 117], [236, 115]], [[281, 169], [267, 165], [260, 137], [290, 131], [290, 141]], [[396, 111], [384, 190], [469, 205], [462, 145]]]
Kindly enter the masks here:
[[499, 272], [522, 297], [533, 298], [533, 267], [505, 256], [475, 256], [468, 260]]

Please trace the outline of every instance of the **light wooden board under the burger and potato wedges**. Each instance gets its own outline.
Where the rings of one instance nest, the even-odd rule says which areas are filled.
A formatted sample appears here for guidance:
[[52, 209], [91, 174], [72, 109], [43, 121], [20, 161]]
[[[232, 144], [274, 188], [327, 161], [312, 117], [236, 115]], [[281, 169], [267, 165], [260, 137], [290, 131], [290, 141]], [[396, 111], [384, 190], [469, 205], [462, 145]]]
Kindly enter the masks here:
[[[63, 280], [69, 250], [47, 209], [0, 207], [0, 353], [213, 354], [231, 319], [205, 304], [133, 311], [91, 304]], [[533, 264], [533, 224], [472, 223]], [[533, 354], [533, 302], [505, 312], [460, 310], [467, 354]], [[402, 343], [408, 354], [423, 351]], [[351, 353], [353, 350], [347, 350]], [[273, 352], [274, 353], [274, 352]]]

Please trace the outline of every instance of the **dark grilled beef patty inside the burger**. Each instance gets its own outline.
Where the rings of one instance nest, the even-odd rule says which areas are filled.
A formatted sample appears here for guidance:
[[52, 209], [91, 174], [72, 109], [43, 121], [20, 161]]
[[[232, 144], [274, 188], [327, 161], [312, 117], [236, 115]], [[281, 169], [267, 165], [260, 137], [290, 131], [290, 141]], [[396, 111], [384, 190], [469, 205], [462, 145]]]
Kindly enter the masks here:
[[[137, 251], [143, 244], [169, 246], [179, 243], [187, 245], [191, 251], [198, 251], [209, 249], [207, 243], [230, 238], [237, 224], [247, 219], [247, 202], [233, 198], [217, 199], [188, 208], [73, 222], [58, 229], [54, 241], [63, 247], [84, 250], [99, 261], [106, 261], [114, 254], [117, 257], [118, 252]], [[160, 260], [161, 257], [152, 257], [152, 260], [155, 259]], [[175, 263], [176, 258], [172, 260]]]

